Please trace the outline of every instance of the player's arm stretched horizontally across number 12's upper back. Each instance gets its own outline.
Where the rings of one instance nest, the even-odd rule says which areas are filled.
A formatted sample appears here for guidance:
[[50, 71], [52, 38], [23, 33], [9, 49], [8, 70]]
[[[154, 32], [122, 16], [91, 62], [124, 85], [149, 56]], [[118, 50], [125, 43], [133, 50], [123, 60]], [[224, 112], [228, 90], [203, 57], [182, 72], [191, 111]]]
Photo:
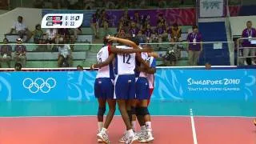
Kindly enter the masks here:
[[132, 54], [132, 53], [150, 53], [153, 49], [145, 48], [145, 49], [118, 49], [115, 46], [110, 46], [110, 52], [114, 54]]

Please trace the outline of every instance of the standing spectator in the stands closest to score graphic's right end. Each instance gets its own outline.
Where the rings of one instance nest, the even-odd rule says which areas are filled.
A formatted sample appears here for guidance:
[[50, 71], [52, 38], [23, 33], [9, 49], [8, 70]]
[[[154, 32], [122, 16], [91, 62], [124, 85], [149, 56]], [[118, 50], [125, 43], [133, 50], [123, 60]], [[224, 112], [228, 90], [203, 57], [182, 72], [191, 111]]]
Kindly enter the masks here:
[[94, 37], [98, 38], [98, 29], [99, 29], [99, 10], [96, 10], [95, 14], [92, 15], [92, 18], [90, 19], [90, 27], [94, 32]]

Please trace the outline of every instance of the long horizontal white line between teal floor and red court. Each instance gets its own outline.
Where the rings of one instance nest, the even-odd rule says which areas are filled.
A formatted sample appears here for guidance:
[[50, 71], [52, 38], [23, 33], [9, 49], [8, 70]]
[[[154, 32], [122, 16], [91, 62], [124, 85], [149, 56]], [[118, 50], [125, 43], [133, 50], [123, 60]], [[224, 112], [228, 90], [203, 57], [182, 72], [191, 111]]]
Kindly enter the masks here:
[[[97, 115], [38, 115], [38, 116], [0, 116], [0, 118], [80, 118], [80, 117], [96, 117]], [[114, 115], [114, 117], [121, 117], [121, 115]], [[182, 117], [182, 118], [190, 118], [190, 115], [151, 115], [151, 117]], [[197, 115], [194, 118], [255, 118], [255, 117], [246, 117], [246, 116], [208, 116], [208, 115]]]

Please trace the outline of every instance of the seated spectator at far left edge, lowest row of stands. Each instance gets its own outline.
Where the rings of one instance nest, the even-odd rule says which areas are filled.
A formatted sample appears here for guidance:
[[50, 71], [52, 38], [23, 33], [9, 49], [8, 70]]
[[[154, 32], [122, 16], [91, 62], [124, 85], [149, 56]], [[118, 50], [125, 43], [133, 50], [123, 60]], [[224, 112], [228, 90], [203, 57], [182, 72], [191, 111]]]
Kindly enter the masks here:
[[0, 49], [0, 54], [1, 54], [0, 61], [1, 62], [6, 62], [7, 66], [10, 68], [12, 48], [11, 48], [10, 45], [8, 45], [8, 39], [7, 38], [3, 39], [3, 43], [4, 43], [4, 45], [2, 45], [1, 49]]

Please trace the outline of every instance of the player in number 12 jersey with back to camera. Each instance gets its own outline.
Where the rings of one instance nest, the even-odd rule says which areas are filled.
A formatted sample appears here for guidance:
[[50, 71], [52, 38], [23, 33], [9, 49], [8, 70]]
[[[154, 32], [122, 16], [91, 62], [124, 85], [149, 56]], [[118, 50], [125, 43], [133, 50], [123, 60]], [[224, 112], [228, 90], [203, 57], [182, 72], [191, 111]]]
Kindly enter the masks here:
[[[135, 47], [138, 48], [137, 45]], [[132, 49], [127, 46], [116, 46], [119, 49]], [[135, 59], [146, 65], [139, 54], [117, 54], [115, 58], [115, 98], [117, 98], [118, 107], [122, 114], [122, 119], [126, 124], [126, 134], [122, 139], [127, 143], [137, 141], [132, 129], [128, 111], [131, 110], [131, 104], [135, 98]], [[147, 66], [147, 65], [146, 65]], [[147, 66], [149, 67], [149, 66]]]

